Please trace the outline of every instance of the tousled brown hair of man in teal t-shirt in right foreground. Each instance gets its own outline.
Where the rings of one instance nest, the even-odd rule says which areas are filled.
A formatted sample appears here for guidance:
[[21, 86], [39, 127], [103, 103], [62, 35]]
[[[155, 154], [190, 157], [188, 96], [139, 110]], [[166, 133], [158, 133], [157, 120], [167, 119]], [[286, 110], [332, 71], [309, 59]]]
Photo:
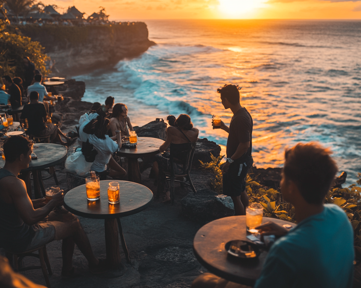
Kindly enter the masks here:
[[338, 170], [330, 149], [310, 142], [297, 144], [284, 153], [283, 174], [292, 180], [310, 204], [321, 204]]

